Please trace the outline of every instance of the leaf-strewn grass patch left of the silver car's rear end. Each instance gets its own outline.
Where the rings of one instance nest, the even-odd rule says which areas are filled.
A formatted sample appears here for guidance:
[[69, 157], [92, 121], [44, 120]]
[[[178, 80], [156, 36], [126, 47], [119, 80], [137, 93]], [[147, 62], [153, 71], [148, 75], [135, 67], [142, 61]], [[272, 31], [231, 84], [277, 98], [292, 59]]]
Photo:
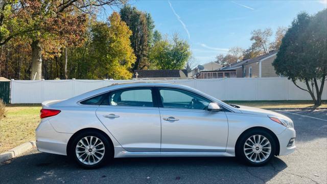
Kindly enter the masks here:
[[35, 140], [41, 105], [7, 105], [7, 117], [0, 120], [0, 153]]

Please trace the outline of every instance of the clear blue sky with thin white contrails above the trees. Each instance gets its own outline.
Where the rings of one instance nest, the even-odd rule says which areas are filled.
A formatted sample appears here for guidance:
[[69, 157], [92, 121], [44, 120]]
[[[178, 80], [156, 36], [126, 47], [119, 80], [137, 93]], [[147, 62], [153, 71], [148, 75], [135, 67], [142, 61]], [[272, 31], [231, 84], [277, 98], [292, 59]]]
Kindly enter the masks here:
[[[197, 64], [214, 61], [228, 48], [247, 49], [254, 29], [290, 26], [301, 11], [315, 14], [327, 7], [323, 1], [130, 1], [152, 15], [162, 35], [179, 33], [189, 41]], [[109, 12], [108, 12], [109, 13]], [[101, 14], [104, 19], [107, 14]]]

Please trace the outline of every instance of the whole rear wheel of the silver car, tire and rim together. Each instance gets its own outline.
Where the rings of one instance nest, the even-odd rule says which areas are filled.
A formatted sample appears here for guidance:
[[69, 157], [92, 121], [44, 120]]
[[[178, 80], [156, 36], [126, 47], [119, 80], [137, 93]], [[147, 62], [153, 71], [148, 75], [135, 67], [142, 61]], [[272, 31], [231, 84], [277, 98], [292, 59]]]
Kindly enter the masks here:
[[91, 130], [73, 137], [68, 156], [82, 168], [95, 169], [113, 158], [113, 148], [102, 133]]

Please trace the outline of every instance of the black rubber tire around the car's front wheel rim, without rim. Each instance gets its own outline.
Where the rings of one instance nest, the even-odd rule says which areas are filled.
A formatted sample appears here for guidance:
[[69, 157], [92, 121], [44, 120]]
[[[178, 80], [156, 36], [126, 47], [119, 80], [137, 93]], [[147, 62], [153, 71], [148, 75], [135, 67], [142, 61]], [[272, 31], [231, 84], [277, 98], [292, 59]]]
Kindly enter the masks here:
[[[250, 148], [249, 146], [244, 146], [245, 145], [245, 142], [250, 137], [252, 137], [253, 135], [261, 135], [261, 140], [263, 140], [263, 137], [262, 136], [264, 136], [270, 142], [270, 147], [271, 147], [270, 154], [262, 162], [260, 162], [260, 160], [258, 160], [259, 158], [256, 159], [258, 162], [253, 162], [252, 160], [250, 160], [245, 155], [244, 148]], [[259, 136], [255, 136], [255, 137], [257, 137], [257, 139], [259, 139]], [[258, 149], [258, 148], [255, 147], [255, 149]], [[268, 149], [265, 149], [265, 148], [261, 149], [260, 148], [260, 150], [267, 151]], [[269, 161], [274, 157], [275, 150], [276, 150], [275, 139], [273, 138], [273, 135], [271, 135], [270, 132], [265, 131], [263, 129], [253, 129], [253, 130], [247, 131], [247, 132], [245, 132], [244, 134], [241, 135], [241, 137], [240, 137], [240, 139], [239, 139], [239, 141], [238, 141], [238, 143], [236, 145], [236, 150], [235, 151], [236, 151], [236, 157], [238, 158], [238, 160], [240, 160], [240, 162], [242, 162], [242, 163], [244, 163], [246, 165], [249, 165], [249, 166], [263, 166], [263, 165], [268, 164]], [[251, 151], [252, 150], [249, 150], [247, 153], [249, 153]], [[264, 158], [263, 153], [260, 153], [259, 156], [260, 155], [261, 155], [261, 158]], [[249, 156], [251, 156], [251, 154], [249, 154]]]

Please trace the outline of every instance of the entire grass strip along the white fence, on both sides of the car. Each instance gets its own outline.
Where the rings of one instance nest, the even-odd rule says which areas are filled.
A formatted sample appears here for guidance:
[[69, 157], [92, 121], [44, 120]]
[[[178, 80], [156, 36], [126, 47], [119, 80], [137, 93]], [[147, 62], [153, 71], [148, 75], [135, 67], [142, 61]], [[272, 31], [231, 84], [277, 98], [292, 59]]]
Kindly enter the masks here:
[[[259, 108], [303, 108], [312, 106], [311, 101], [226, 101], [231, 104]], [[323, 101], [320, 107], [327, 107]], [[40, 104], [9, 104], [7, 117], [0, 121], [0, 153], [22, 143], [35, 140], [35, 129], [40, 122]]]

